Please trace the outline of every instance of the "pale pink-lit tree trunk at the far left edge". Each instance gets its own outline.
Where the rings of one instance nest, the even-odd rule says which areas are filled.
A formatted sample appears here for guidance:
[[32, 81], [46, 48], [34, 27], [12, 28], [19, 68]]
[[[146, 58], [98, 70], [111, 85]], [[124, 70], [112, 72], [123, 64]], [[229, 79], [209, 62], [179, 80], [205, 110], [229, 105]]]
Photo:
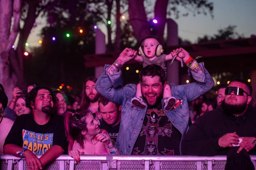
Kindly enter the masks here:
[[[9, 54], [18, 34], [20, 5], [20, 0], [0, 1], [0, 83], [5, 89], [9, 102], [17, 82], [10, 69]], [[13, 25], [11, 29], [12, 16]]]

